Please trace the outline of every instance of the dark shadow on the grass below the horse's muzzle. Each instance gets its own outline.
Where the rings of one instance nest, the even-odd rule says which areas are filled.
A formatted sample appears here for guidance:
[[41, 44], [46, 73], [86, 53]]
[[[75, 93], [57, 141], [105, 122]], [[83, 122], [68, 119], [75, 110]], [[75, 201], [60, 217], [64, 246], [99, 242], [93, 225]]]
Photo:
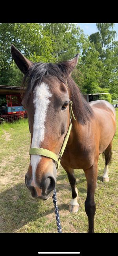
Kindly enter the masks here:
[[0, 233], [15, 233], [37, 219], [44, 224], [44, 213], [49, 205], [50, 202], [46, 205], [43, 200], [33, 200], [25, 184], [6, 189], [0, 193]]

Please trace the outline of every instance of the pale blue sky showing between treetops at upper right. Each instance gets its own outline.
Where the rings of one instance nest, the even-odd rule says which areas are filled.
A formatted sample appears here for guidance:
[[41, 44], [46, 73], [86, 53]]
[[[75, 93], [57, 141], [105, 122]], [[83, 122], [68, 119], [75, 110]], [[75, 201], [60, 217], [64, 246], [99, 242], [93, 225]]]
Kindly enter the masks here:
[[[96, 23], [77, 23], [80, 28], [83, 29], [83, 32], [85, 35], [91, 35], [93, 33], [96, 33], [98, 31]], [[116, 37], [116, 41], [118, 41], [118, 23], [115, 23], [115, 26], [113, 28], [113, 30], [116, 31], [117, 33], [117, 37]]]

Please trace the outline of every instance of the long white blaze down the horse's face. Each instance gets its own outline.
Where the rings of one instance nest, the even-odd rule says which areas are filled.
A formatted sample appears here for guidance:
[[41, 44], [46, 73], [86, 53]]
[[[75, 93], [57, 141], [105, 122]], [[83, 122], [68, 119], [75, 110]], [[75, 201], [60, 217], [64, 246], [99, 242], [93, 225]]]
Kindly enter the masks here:
[[[33, 123], [33, 138], [31, 148], [40, 148], [41, 142], [44, 140], [46, 113], [48, 105], [50, 103], [49, 97], [52, 97], [49, 87], [46, 83], [42, 82], [41, 85], [36, 86], [33, 92], [34, 99], [33, 104], [35, 107], [34, 123]], [[41, 155], [31, 155], [31, 167], [32, 167], [32, 182], [31, 185], [36, 187], [35, 183], [35, 171], [37, 165], [41, 160]]]

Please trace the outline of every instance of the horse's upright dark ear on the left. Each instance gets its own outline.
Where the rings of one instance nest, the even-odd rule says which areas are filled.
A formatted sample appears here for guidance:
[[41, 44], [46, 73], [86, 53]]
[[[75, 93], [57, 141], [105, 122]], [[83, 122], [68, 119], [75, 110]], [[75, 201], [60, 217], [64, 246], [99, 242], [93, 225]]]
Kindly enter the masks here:
[[22, 73], [26, 75], [29, 67], [34, 65], [34, 63], [26, 59], [24, 55], [21, 52], [19, 52], [19, 50], [17, 50], [17, 48], [14, 45], [11, 45], [11, 54], [12, 54], [13, 60], [17, 64], [20, 71], [22, 71]]

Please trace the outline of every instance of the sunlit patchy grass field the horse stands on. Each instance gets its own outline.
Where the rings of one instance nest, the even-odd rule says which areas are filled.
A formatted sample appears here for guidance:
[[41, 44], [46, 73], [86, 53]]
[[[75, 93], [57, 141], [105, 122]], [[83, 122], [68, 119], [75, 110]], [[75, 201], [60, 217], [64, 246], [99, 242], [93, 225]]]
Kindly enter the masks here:
[[[98, 187], [95, 192], [96, 233], [118, 233], [118, 109], [117, 130], [112, 146], [109, 182], [102, 182], [103, 161], [98, 161]], [[30, 163], [28, 120], [0, 125], [0, 233], [57, 233], [52, 197], [48, 201], [33, 200], [25, 185]], [[75, 170], [79, 192], [79, 211], [70, 213], [71, 187], [65, 170], [57, 171], [57, 200], [63, 233], [87, 233], [88, 218], [84, 202], [87, 196], [83, 170]]]

